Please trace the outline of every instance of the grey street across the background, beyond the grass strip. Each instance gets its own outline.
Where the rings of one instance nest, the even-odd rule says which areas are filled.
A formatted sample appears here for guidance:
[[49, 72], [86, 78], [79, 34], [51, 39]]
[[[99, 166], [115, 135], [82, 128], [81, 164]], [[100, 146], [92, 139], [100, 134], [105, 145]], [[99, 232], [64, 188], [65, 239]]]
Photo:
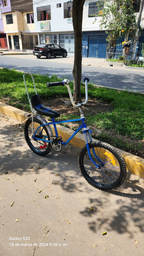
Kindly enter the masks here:
[[[140, 68], [110, 67], [105, 59], [83, 58], [82, 79], [88, 77], [94, 84], [108, 87], [144, 92], [144, 72]], [[56, 74], [73, 80], [74, 57], [37, 59], [33, 55], [1, 55], [0, 67], [16, 69], [29, 73], [49, 76]]]

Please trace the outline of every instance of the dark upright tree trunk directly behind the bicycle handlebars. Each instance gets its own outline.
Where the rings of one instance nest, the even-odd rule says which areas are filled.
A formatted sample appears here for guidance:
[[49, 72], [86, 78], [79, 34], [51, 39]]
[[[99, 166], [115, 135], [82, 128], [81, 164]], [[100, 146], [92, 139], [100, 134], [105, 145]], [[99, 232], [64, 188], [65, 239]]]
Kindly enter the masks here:
[[81, 78], [82, 78], [82, 19], [85, 0], [73, 0], [73, 27], [75, 35], [74, 58], [74, 101], [81, 102]]

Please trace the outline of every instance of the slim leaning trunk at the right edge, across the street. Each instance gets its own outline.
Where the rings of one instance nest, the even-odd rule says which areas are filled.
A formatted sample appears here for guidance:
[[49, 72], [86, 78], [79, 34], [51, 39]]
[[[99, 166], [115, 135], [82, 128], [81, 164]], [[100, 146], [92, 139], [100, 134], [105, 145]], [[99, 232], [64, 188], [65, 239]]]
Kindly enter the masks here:
[[136, 53], [137, 41], [139, 38], [139, 30], [140, 30], [140, 22], [141, 22], [141, 14], [142, 14], [142, 10], [143, 10], [143, 5], [144, 5], [144, 0], [141, 0], [138, 20], [137, 20], [137, 31], [135, 33], [133, 49], [132, 49], [132, 58], [131, 58], [132, 60], [135, 60], [135, 53]]

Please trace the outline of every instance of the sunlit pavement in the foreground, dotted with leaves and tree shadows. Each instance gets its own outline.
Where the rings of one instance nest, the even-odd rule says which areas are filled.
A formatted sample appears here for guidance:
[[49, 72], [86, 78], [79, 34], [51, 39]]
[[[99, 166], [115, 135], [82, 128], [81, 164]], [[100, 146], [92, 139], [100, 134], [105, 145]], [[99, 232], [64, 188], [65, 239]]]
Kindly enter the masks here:
[[22, 125], [0, 119], [1, 256], [144, 254], [142, 179], [128, 173], [118, 190], [95, 189], [77, 148], [37, 156]]

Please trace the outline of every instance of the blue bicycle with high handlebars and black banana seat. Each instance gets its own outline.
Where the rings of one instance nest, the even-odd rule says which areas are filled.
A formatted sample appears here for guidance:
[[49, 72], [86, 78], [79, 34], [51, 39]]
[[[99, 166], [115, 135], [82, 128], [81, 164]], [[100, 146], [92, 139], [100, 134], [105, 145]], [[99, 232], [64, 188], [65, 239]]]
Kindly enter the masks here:
[[[30, 73], [26, 74], [31, 75]], [[32, 75], [31, 77], [33, 79], [36, 94], [33, 95], [30, 100], [25, 81], [26, 74], [23, 75], [23, 79], [32, 115], [28, 117], [25, 124], [25, 139], [31, 150], [40, 156], [49, 154], [52, 149], [59, 152], [63, 145], [66, 145], [78, 132], [80, 132], [80, 130], [82, 130], [85, 139], [85, 146], [79, 153], [78, 165], [84, 178], [90, 185], [101, 190], [108, 190], [121, 186], [126, 178], [126, 164], [123, 157], [113, 146], [107, 143], [100, 141], [92, 142], [91, 130], [87, 127], [85, 122], [82, 106], [86, 104], [88, 100], [87, 83], [89, 79], [84, 79], [85, 101], [78, 104], [75, 104], [73, 100], [73, 96], [68, 85], [69, 81], [67, 79], [59, 82], [47, 83], [47, 87], [66, 86], [71, 103], [80, 110], [80, 119], [56, 121], [55, 118], [59, 117], [60, 113], [46, 108], [46, 106], [41, 103]], [[52, 121], [47, 122], [42, 116], [48, 116]], [[81, 125], [67, 141], [63, 141], [58, 134], [57, 124], [76, 121], [81, 122]], [[54, 127], [54, 133], [51, 126]]]

